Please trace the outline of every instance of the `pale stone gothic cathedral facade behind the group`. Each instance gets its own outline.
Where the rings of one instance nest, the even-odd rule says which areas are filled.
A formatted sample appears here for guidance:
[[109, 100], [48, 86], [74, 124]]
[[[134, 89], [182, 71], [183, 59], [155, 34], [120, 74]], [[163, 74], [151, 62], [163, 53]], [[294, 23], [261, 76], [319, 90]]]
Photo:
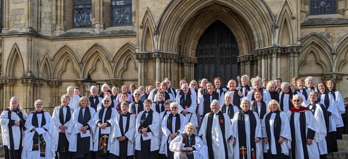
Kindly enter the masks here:
[[0, 105], [66, 87], [238, 75], [333, 78], [348, 91], [348, 0], [1, 0]]

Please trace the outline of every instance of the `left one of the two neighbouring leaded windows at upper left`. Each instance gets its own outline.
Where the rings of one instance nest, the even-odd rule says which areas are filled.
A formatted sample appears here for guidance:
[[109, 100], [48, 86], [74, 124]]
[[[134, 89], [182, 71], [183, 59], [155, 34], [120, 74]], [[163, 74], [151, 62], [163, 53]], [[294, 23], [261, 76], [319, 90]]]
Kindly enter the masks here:
[[74, 28], [92, 27], [92, 0], [74, 0]]

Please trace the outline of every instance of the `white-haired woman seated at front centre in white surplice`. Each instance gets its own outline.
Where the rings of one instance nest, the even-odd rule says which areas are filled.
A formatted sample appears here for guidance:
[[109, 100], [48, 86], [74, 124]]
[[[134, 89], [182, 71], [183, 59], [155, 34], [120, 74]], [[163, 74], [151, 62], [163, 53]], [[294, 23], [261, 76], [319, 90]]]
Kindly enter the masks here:
[[208, 159], [208, 147], [198, 135], [193, 134], [195, 131], [195, 125], [188, 123], [185, 126], [186, 133], [180, 133], [169, 144], [169, 150], [174, 152], [174, 159]]

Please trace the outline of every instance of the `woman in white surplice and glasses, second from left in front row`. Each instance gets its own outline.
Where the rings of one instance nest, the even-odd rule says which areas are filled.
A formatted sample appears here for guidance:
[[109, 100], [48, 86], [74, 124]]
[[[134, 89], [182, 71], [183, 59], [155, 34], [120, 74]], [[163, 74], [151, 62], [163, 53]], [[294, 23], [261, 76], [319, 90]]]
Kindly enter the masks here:
[[51, 115], [42, 110], [44, 102], [36, 100], [34, 105], [36, 110], [29, 113], [24, 125], [22, 159], [52, 159], [56, 156], [54, 122]]

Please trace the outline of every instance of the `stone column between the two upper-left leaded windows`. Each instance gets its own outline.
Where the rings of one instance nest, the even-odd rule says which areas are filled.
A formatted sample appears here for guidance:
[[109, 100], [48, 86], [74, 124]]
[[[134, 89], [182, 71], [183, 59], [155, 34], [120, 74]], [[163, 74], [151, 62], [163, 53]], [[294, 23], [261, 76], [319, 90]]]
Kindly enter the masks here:
[[94, 3], [94, 6], [92, 7], [94, 10], [94, 29], [93, 32], [96, 34], [99, 34], [104, 31], [104, 23], [103, 23], [103, 0], [92, 0], [92, 4]]

